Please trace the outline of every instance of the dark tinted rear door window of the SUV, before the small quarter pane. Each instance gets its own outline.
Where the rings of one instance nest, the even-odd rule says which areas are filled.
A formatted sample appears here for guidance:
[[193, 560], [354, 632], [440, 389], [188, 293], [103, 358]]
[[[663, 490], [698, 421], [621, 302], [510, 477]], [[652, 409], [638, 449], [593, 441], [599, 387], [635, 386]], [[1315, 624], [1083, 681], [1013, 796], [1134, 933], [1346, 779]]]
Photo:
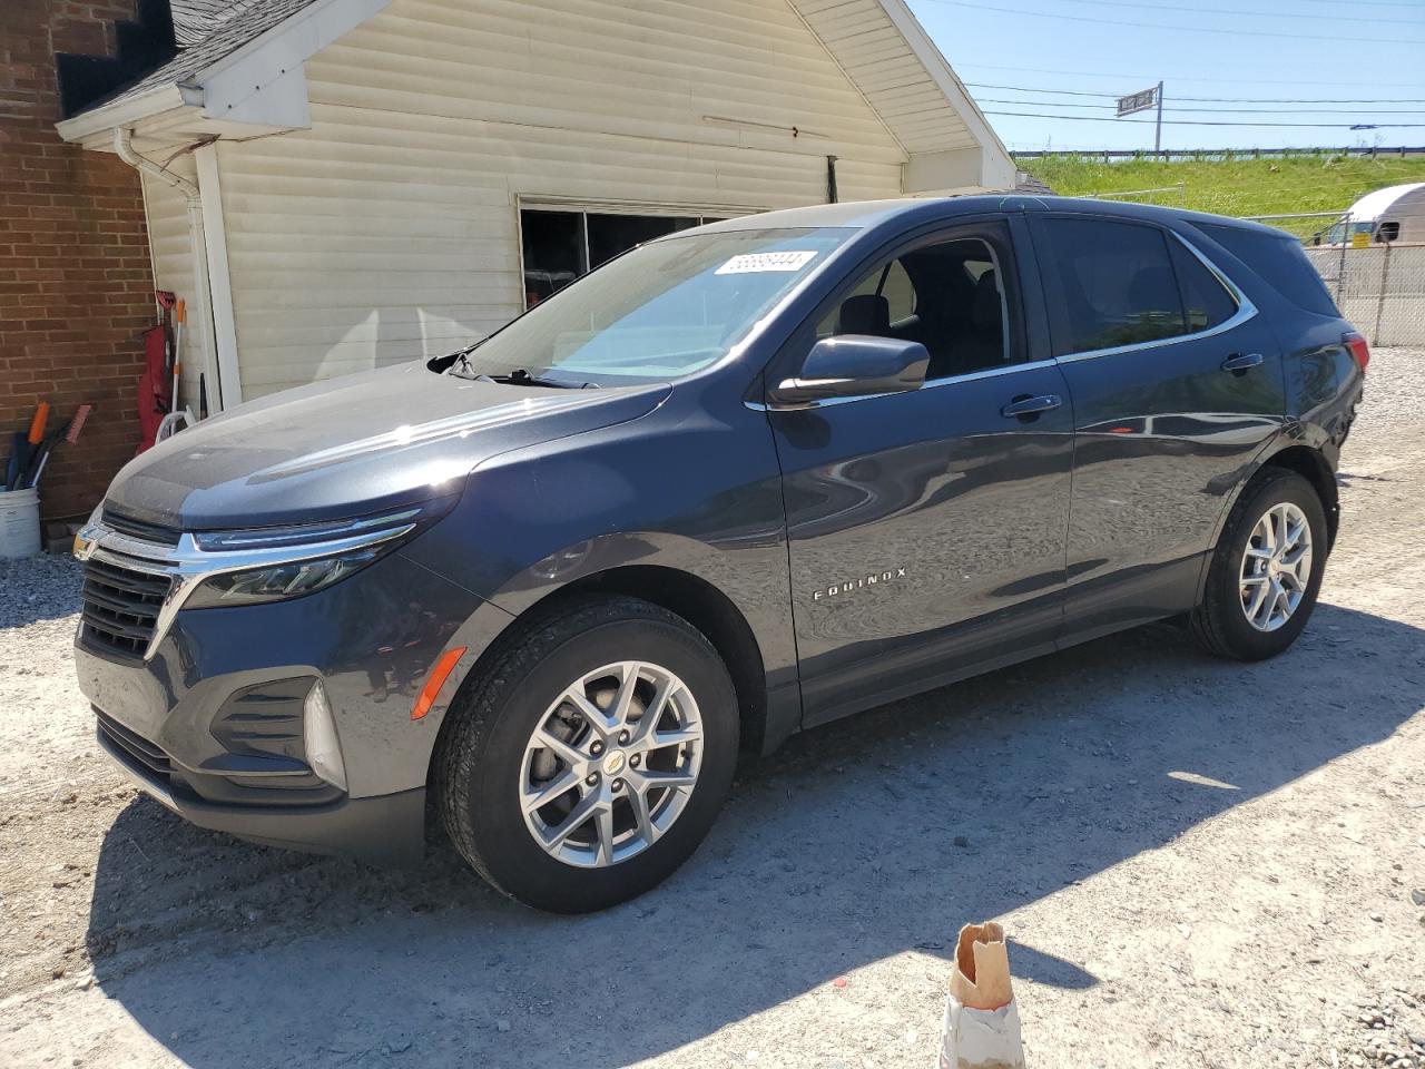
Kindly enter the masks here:
[[1193, 332], [1161, 229], [1059, 215], [1043, 220], [1043, 232], [1057, 304], [1054, 355]]

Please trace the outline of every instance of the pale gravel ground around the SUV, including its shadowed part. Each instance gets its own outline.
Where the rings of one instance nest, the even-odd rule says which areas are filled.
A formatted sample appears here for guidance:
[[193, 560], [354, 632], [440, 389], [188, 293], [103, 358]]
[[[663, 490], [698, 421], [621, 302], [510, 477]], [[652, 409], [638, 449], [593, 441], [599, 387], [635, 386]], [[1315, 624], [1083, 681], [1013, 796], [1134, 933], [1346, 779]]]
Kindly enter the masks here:
[[1368, 389], [1288, 654], [1161, 626], [821, 728], [579, 919], [135, 795], [73, 684], [77, 569], [0, 564], [0, 1065], [925, 1066], [996, 918], [1035, 1069], [1425, 1066], [1425, 352]]

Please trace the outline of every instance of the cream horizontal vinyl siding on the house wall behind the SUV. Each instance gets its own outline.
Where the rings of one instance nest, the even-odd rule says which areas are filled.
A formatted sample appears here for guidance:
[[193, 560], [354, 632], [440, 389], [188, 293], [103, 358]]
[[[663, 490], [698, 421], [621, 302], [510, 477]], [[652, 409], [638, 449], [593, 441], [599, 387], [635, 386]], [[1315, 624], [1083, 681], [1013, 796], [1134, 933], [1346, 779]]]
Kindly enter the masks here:
[[306, 78], [311, 130], [218, 144], [245, 398], [504, 324], [520, 198], [744, 214], [906, 160], [787, 0], [393, 0]]

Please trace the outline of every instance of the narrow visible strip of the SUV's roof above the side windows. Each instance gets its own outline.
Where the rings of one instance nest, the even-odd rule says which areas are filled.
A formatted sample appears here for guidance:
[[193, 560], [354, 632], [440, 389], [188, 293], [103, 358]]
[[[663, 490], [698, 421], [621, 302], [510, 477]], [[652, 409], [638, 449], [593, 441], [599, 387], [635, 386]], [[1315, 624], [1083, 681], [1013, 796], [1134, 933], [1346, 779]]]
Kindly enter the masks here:
[[[1100, 201], [1084, 197], [1045, 197], [1037, 194], [1003, 192], [978, 194], [972, 197], [905, 197], [889, 201], [844, 201], [841, 204], [814, 204], [804, 208], [782, 208], [779, 211], [741, 215], [735, 220], [712, 222], [700, 229], [737, 231], [768, 229], [778, 227], [852, 227], [879, 228], [882, 225], [919, 225], [922, 222], [949, 221], [959, 215], [979, 215], [992, 211], [1070, 211], [1093, 212], [1124, 220], [1144, 220], [1159, 224], [1177, 221], [1207, 222], [1213, 225], [1240, 227], [1277, 237], [1282, 231], [1263, 227], [1247, 220], [1233, 220], [1226, 215], [1208, 215], [1187, 208], [1164, 208], [1153, 204], [1127, 204], [1124, 201]], [[687, 234], [687, 231], [681, 231]]]

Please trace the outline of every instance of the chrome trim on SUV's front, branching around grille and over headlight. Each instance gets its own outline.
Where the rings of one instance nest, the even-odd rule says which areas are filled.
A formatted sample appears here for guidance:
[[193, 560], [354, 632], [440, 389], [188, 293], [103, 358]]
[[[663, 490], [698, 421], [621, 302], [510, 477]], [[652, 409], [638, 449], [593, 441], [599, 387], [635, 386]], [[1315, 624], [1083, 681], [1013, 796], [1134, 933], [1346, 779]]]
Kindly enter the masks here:
[[[390, 539], [409, 534], [415, 527], [415, 523], [398, 523], [398, 526], [382, 530], [368, 530], [342, 539], [326, 539], [299, 546], [208, 552], [200, 549], [197, 537], [188, 532], [178, 536], [177, 546], [165, 546], [121, 534], [113, 527], [105, 527], [100, 520], [80, 532], [76, 556], [80, 560], [93, 557], [115, 567], [170, 580], [168, 593], [158, 607], [158, 617], [154, 620], [154, 634], [144, 650], [144, 660], [150, 661], [158, 653], [158, 646], [168, 636], [180, 610], [205, 580], [231, 572], [295, 564], [379, 546]], [[83, 627], [83, 623], [80, 626]]]

